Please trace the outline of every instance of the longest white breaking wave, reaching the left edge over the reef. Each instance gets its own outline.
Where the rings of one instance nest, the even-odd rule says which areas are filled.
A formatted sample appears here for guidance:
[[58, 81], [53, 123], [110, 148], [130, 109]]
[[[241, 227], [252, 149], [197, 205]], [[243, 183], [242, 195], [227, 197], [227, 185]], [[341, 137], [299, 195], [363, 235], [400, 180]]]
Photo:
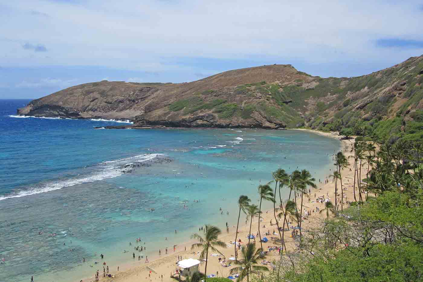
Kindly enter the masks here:
[[59, 181], [55, 180], [55, 181], [43, 183], [43, 184], [39, 185], [38, 187], [30, 188], [28, 190], [14, 191], [10, 195], [0, 196], [0, 201], [4, 200], [4, 199], [19, 198], [19, 197], [29, 196], [29, 195], [33, 195], [33, 194], [40, 194], [40, 193], [44, 193], [44, 192], [55, 191], [55, 190], [59, 190], [61, 188], [65, 188], [65, 187], [70, 187], [70, 186], [73, 186], [73, 185], [80, 185], [82, 183], [94, 182], [94, 181], [118, 177], [118, 176], [121, 176], [122, 174], [125, 173], [123, 171], [124, 168], [125, 168], [125, 165], [130, 165], [132, 163], [127, 163], [125, 165], [122, 164], [122, 165], [118, 165], [118, 166], [111, 166], [111, 167], [104, 167], [104, 163], [115, 163], [115, 162], [134, 159], [134, 158], [142, 158], [142, 160], [135, 160], [135, 161], [136, 162], [143, 162], [143, 161], [146, 161], [146, 160], [154, 159], [159, 155], [164, 155], [164, 154], [144, 154], [144, 155], [138, 155], [138, 156], [131, 157], [131, 158], [105, 161], [105, 162], [102, 163], [102, 165], [103, 165], [102, 169], [96, 170], [95, 172], [92, 172], [91, 174], [88, 174], [88, 175], [85, 175], [85, 176], [82, 176], [82, 177], [79, 177], [79, 178], [74, 178], [74, 179], [59, 180]]

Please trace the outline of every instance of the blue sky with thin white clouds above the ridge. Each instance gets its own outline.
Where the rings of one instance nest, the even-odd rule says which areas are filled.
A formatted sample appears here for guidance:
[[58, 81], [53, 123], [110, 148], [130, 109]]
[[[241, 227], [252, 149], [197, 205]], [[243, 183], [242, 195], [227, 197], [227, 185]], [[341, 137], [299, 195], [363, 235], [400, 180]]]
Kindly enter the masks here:
[[423, 0], [2, 0], [0, 26], [0, 99], [264, 64], [352, 77], [423, 55]]

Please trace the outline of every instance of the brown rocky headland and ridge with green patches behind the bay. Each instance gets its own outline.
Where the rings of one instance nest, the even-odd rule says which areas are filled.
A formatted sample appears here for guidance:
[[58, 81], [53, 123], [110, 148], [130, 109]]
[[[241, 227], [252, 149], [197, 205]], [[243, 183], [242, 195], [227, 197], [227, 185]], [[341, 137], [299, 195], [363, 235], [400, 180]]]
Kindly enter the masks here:
[[[66, 88], [17, 111], [75, 119], [130, 119], [134, 127], [326, 128], [351, 120], [406, 123], [423, 108], [423, 56], [352, 78], [291, 65], [222, 72], [190, 83], [100, 81]], [[373, 124], [374, 124], [373, 122]], [[124, 126], [128, 127], [128, 126]]]

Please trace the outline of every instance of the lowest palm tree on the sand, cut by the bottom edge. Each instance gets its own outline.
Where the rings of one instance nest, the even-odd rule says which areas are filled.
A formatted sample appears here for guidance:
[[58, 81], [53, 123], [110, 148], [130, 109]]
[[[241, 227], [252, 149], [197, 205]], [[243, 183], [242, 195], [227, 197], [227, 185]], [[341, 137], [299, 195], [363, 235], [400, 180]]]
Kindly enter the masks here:
[[248, 243], [247, 246], [243, 246], [241, 249], [242, 260], [235, 262], [240, 266], [234, 267], [231, 269], [230, 274], [239, 273], [237, 282], [241, 282], [245, 277], [247, 277], [247, 282], [250, 281], [250, 274], [258, 274], [259, 271], [269, 271], [269, 268], [266, 266], [256, 265], [258, 260], [264, 259], [264, 254], [262, 250], [255, 249], [253, 243]]

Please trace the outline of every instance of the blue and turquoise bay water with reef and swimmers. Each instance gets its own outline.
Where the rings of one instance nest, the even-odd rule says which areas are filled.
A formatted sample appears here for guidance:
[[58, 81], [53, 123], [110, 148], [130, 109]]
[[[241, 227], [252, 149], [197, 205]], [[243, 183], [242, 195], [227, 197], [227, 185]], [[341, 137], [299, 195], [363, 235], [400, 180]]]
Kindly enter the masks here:
[[[153, 256], [202, 224], [224, 230], [236, 223], [238, 196], [257, 202], [271, 171], [298, 166], [323, 179], [340, 147], [296, 130], [94, 130], [115, 123], [9, 116], [25, 103], [0, 100], [5, 282], [79, 281], [101, 268], [89, 266], [101, 253], [113, 270], [132, 262], [135, 238]], [[128, 163], [146, 165], [123, 173]]]

